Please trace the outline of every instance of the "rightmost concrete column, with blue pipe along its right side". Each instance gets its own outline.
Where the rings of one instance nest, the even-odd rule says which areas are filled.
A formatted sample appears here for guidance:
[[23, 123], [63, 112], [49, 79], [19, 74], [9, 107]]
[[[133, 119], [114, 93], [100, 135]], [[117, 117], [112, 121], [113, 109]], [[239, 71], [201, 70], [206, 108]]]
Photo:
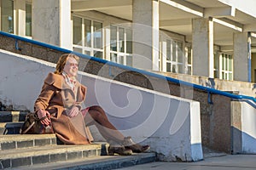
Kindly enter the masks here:
[[248, 32], [234, 33], [234, 80], [251, 82], [251, 37]]

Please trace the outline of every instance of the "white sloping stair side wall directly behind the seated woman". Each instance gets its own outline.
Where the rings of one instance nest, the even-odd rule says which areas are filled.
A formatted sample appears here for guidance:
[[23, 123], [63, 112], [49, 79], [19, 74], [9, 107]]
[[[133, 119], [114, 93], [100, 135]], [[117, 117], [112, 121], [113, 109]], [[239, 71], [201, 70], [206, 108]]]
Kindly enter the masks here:
[[[43, 80], [55, 65], [0, 51], [0, 100], [15, 109], [33, 110]], [[88, 87], [85, 106], [102, 105], [125, 136], [150, 144], [163, 161], [198, 161], [201, 148], [199, 102], [80, 72]], [[93, 134], [97, 135], [97, 134]]]

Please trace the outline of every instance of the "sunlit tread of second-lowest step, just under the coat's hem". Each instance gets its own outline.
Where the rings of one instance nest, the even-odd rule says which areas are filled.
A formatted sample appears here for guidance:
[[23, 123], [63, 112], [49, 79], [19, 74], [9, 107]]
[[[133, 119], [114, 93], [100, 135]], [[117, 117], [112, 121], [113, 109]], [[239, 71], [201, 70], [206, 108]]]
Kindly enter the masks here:
[[72, 151], [82, 150], [99, 150], [102, 144], [79, 144], [79, 145], [45, 145], [39, 147], [22, 148], [15, 150], [0, 150], [0, 160], [2, 159], [15, 159], [28, 156], [43, 156], [48, 154], [66, 153]]

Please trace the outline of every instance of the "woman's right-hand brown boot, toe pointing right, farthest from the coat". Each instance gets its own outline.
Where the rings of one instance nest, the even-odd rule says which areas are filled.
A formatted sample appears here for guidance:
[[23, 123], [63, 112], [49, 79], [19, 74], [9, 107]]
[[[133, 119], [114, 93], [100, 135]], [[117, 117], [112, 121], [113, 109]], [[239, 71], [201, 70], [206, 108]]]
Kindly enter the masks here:
[[125, 137], [123, 144], [125, 145], [125, 148], [131, 149], [132, 152], [135, 152], [135, 153], [145, 152], [150, 149], [149, 145], [140, 145], [133, 142], [131, 139], [131, 136]]

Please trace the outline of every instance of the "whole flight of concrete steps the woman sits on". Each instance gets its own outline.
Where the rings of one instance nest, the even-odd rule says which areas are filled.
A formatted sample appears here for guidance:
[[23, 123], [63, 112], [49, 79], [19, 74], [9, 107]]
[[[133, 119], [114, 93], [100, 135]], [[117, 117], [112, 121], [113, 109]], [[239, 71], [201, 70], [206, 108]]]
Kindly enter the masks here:
[[23, 134], [27, 111], [0, 111], [0, 169], [115, 169], [155, 161], [154, 153], [108, 156], [106, 143], [58, 144], [55, 134]]

